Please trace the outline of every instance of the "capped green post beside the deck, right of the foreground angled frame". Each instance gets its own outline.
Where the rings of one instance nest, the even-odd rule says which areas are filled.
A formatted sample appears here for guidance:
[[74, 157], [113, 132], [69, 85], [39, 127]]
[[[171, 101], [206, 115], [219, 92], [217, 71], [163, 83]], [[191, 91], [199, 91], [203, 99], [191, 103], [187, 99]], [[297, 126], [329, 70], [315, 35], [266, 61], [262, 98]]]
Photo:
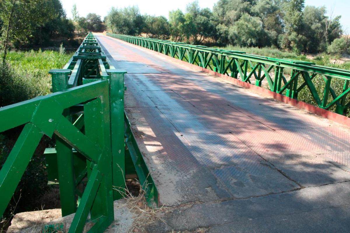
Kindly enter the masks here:
[[[124, 153], [124, 70], [106, 70], [110, 81], [110, 118], [113, 169], [113, 198], [122, 197], [125, 188]], [[117, 190], [119, 191], [117, 191]]]

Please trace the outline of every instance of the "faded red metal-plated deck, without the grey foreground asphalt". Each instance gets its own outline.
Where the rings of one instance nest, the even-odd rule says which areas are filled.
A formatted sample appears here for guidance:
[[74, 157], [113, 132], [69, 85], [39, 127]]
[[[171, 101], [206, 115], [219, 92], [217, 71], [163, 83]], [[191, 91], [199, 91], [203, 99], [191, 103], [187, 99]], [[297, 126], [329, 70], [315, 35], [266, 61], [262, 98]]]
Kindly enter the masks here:
[[324, 186], [350, 181], [348, 127], [151, 50], [97, 38], [114, 66], [127, 70], [126, 113], [161, 204], [288, 192], [288, 202], [306, 202], [312, 212], [299, 192], [320, 187], [322, 194]]

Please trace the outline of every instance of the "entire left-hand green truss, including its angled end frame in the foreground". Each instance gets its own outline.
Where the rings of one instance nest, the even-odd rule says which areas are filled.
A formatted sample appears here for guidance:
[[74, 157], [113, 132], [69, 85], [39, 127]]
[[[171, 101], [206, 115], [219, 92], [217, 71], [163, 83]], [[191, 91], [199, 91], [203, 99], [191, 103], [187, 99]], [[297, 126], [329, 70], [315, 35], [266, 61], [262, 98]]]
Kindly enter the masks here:
[[48, 179], [59, 183], [62, 216], [75, 213], [69, 232], [103, 232], [114, 220], [113, 200], [123, 197], [125, 174], [136, 171], [150, 206], [158, 191], [124, 112], [124, 74], [114, 69], [89, 33], [64, 69], [51, 70], [53, 94], [0, 109], [0, 132], [25, 125], [0, 170], [0, 216], [43, 135]]

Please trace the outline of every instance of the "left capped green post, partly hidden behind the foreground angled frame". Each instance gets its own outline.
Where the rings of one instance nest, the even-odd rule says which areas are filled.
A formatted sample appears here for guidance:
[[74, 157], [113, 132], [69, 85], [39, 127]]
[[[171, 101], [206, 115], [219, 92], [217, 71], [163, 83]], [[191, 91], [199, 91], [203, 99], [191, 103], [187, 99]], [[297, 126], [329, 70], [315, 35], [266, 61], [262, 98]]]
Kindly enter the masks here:
[[[68, 89], [70, 70], [55, 69], [49, 73], [52, 76], [52, 92]], [[69, 110], [64, 110], [63, 115], [70, 119]], [[56, 153], [62, 216], [67, 216], [75, 213], [77, 208], [72, 147], [56, 137]]]

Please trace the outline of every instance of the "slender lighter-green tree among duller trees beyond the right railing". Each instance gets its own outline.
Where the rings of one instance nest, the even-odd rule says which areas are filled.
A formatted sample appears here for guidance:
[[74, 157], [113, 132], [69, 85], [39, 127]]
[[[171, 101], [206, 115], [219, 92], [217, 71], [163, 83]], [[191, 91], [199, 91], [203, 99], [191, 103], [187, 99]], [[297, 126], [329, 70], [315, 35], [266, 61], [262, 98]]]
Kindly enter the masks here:
[[172, 36], [173, 41], [181, 41], [185, 30], [184, 23], [185, 16], [182, 10], [177, 9], [169, 11], [170, 35]]

